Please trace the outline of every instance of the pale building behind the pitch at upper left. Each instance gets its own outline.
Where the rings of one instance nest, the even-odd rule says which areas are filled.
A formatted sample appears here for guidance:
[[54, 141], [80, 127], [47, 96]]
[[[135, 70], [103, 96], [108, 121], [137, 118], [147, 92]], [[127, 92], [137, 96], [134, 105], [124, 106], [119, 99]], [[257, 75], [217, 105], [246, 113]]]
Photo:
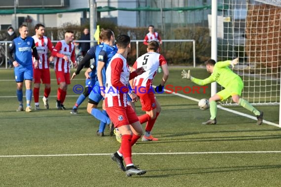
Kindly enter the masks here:
[[[78, 9], [89, 8], [89, 0], [15, 0], [16, 8], [52, 8], [52, 9]], [[145, 6], [146, 0], [96, 0], [97, 7], [112, 6], [136, 8]], [[24, 4], [25, 3], [25, 4]], [[56, 4], [56, 5], [52, 5]], [[0, 0], [0, 9], [14, 9], [14, 0]], [[40, 11], [38, 11], [40, 13]], [[137, 27], [138, 12], [137, 11], [110, 11], [101, 12], [101, 18], [115, 18], [116, 24], [119, 26]], [[81, 18], [89, 18], [89, 12], [70, 12], [56, 14], [6, 14], [0, 15], [0, 29], [6, 29], [8, 26], [21, 25], [22, 23], [31, 22], [32, 25], [43, 23], [46, 27], [62, 27], [66, 23], [81, 24]], [[15, 27], [15, 28], [17, 28]]]

